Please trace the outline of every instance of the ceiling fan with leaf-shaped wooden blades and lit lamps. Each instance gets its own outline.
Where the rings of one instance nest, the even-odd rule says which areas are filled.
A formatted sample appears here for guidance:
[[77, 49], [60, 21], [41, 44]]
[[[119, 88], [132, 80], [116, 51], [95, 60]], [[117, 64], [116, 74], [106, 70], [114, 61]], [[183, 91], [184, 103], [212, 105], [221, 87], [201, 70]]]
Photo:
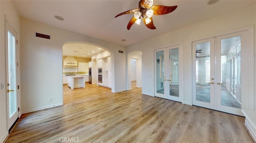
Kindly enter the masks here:
[[134, 23], [140, 25], [141, 19], [143, 19], [144, 24], [149, 29], [156, 29], [153, 24], [152, 16], [154, 15], [164, 15], [176, 10], [178, 6], [162, 6], [162, 5], [153, 5], [153, 0], [140, 0], [139, 1], [139, 8], [128, 10], [126, 12], [122, 12], [115, 16], [122, 16], [124, 14], [134, 14], [134, 17], [130, 20], [127, 25], [127, 29], [130, 30]]

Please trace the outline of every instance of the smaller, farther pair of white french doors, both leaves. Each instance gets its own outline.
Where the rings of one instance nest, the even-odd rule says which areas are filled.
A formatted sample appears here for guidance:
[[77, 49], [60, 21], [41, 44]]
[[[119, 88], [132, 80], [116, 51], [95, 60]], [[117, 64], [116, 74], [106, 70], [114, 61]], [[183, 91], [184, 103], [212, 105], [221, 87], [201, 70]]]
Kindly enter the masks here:
[[182, 45], [155, 50], [155, 96], [182, 102]]

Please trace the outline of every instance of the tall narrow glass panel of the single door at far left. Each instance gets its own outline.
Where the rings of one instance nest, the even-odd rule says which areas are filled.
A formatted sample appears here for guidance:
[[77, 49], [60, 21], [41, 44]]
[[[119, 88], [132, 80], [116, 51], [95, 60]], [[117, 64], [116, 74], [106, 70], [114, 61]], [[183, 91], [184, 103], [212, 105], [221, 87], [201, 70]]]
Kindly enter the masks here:
[[17, 111], [15, 37], [8, 31], [9, 117]]

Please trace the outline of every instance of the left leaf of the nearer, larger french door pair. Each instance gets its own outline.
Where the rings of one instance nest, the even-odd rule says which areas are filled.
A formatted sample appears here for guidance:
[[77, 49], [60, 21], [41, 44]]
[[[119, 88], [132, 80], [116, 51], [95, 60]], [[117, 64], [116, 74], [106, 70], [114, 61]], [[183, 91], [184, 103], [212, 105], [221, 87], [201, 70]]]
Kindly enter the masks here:
[[214, 109], [214, 38], [193, 42], [193, 104]]

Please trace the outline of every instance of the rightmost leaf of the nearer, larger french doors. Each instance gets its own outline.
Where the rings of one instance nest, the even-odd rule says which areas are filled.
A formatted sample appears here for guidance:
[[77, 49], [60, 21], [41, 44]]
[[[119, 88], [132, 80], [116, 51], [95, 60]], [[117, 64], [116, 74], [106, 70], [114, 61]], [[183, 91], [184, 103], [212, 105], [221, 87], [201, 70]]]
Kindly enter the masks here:
[[[241, 59], [244, 45], [242, 44], [241, 33], [233, 33], [217, 37], [217, 66], [218, 81], [217, 91], [217, 110], [239, 115], [242, 108], [242, 74]], [[245, 44], [245, 42], [244, 42]], [[219, 49], [219, 50], [218, 50]], [[218, 64], [219, 63], [219, 64]], [[245, 69], [244, 69], [245, 70]]]

